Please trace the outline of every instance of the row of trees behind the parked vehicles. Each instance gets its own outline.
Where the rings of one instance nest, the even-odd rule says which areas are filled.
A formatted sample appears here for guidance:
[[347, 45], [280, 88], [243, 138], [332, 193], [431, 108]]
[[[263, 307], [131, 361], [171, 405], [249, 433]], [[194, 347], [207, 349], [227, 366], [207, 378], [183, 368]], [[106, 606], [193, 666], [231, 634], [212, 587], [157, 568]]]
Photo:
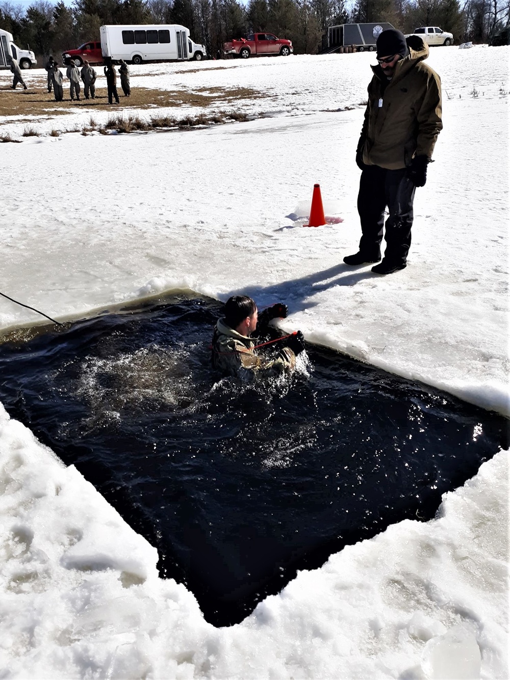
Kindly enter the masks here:
[[327, 47], [328, 27], [348, 22], [389, 22], [404, 33], [439, 26], [456, 41], [485, 42], [510, 22], [510, 0], [74, 0], [68, 7], [36, 0], [24, 10], [0, 2], [0, 28], [39, 57], [99, 41], [103, 24], [182, 24], [212, 57], [223, 42], [267, 31], [292, 41], [296, 54]]

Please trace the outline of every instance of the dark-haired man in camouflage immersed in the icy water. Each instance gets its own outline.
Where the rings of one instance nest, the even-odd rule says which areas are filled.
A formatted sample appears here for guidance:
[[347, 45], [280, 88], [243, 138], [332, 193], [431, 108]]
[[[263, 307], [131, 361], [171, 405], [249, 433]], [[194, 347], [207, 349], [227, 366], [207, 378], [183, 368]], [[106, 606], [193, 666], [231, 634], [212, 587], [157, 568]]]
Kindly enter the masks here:
[[225, 375], [242, 375], [251, 371], [257, 375], [279, 375], [296, 365], [296, 356], [304, 350], [300, 330], [276, 342], [278, 354], [273, 357], [255, 354], [257, 342], [251, 338], [255, 329], [263, 330], [272, 319], [285, 318], [287, 305], [268, 307], [260, 316], [255, 302], [244, 295], [234, 295], [225, 303], [225, 317], [219, 319], [212, 336], [211, 361]]

